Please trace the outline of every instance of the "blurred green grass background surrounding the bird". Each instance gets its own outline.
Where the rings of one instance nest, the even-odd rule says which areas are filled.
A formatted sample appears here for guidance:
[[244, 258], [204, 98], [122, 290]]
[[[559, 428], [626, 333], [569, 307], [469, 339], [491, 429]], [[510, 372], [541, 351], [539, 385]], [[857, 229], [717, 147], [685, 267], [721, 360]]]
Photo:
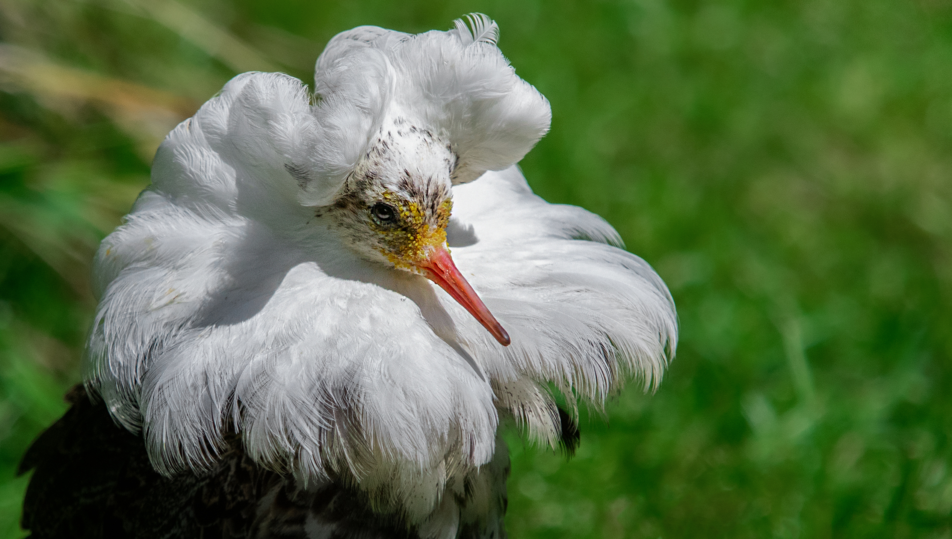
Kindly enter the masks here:
[[511, 536], [952, 536], [948, 0], [0, 0], [0, 533], [162, 135], [235, 72], [472, 10], [552, 103], [529, 183], [605, 216], [682, 325], [574, 459], [510, 436]]

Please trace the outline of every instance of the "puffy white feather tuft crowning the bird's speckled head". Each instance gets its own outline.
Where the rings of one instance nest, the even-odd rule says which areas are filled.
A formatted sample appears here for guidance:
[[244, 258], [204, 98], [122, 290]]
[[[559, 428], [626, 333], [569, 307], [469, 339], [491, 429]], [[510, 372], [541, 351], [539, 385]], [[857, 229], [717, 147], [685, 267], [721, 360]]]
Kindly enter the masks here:
[[[454, 185], [522, 159], [548, 131], [548, 101], [496, 47], [495, 22], [480, 13], [466, 20], [469, 28], [461, 19], [446, 32], [359, 27], [334, 36], [314, 82], [328, 107], [349, 106], [347, 115], [360, 126], [342, 132], [339, 142], [366, 148], [387, 117], [409, 112], [456, 154]], [[332, 194], [334, 183], [309, 189], [312, 199]]]

